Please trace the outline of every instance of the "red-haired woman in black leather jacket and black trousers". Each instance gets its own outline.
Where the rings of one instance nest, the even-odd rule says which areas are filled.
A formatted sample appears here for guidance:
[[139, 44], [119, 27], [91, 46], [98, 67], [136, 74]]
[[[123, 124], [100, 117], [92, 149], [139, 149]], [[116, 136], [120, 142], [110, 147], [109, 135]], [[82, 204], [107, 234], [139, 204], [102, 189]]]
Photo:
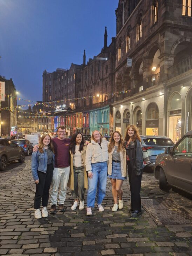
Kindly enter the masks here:
[[129, 185], [131, 191], [131, 217], [137, 217], [142, 214], [140, 188], [143, 174], [143, 153], [141, 148], [141, 139], [137, 127], [130, 124], [125, 134], [127, 165], [129, 174]]

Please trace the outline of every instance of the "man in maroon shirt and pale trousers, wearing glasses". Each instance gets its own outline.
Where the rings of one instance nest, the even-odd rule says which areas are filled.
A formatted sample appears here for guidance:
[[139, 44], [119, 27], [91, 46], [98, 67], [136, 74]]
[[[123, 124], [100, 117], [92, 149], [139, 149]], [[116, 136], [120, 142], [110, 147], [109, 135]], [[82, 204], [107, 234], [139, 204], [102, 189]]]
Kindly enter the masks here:
[[58, 137], [53, 138], [55, 150], [55, 168], [53, 171], [52, 189], [50, 193], [51, 209], [50, 213], [56, 213], [57, 195], [59, 190], [59, 211], [65, 211], [64, 201], [66, 200], [67, 182], [69, 180], [69, 144], [70, 140], [65, 138], [66, 128], [59, 126], [57, 128]]

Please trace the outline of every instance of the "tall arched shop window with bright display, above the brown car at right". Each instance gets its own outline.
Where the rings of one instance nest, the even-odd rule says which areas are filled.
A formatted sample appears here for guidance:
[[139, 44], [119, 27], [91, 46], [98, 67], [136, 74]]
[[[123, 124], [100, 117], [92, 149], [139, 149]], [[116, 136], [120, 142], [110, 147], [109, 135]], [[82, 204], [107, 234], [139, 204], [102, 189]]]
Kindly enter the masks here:
[[169, 137], [174, 143], [181, 137], [181, 108], [181, 95], [174, 93], [169, 102]]

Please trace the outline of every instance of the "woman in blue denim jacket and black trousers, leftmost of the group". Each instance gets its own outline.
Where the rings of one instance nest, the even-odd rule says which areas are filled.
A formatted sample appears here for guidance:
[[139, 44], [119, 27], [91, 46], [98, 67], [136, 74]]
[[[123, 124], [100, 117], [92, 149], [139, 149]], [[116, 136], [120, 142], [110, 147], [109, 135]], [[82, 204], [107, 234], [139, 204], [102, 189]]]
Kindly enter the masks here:
[[[47, 217], [47, 204], [49, 199], [49, 188], [52, 182], [54, 169], [54, 148], [51, 137], [43, 134], [39, 150], [32, 154], [32, 175], [36, 185], [34, 198], [35, 218]], [[40, 211], [42, 201], [42, 216]]]

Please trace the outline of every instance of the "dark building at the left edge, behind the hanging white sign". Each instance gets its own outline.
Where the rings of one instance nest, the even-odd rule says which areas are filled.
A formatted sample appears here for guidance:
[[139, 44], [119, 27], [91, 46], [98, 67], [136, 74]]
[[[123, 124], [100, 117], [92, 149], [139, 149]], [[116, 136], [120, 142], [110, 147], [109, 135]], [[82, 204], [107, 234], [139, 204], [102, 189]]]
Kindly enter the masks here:
[[[16, 88], [12, 78], [6, 79], [5, 76], [0, 76], [0, 81], [5, 82], [5, 101], [1, 101], [0, 126], [1, 136], [11, 133], [16, 133]], [[6, 109], [2, 109], [6, 108]]]

